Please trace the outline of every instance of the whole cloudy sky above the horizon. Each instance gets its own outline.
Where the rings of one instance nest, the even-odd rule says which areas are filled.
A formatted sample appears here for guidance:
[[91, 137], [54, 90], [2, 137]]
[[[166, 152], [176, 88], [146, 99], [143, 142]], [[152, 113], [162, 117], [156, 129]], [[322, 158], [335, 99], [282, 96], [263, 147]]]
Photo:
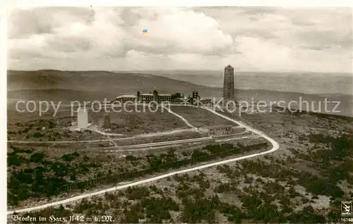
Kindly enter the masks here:
[[[148, 34], [143, 34], [143, 28]], [[8, 68], [352, 72], [351, 8], [29, 8]]]

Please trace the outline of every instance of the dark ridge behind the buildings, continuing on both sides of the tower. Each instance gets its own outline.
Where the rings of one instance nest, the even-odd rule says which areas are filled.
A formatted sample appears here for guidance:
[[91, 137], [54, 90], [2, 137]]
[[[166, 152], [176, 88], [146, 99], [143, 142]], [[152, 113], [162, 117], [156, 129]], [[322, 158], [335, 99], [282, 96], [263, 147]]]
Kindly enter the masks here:
[[[201, 77], [202, 78], [202, 77]], [[60, 71], [8, 70], [8, 104], [17, 99], [47, 101], [103, 101], [114, 99], [121, 94], [152, 92], [181, 92], [191, 94], [193, 90], [203, 99], [222, 97], [222, 88], [206, 87], [190, 82], [174, 80], [169, 77], [141, 73], [115, 73], [107, 71]], [[266, 89], [235, 89], [238, 101], [306, 101], [338, 100], [340, 114], [353, 116], [353, 99], [343, 94], [302, 94], [298, 92], [280, 92]], [[317, 107], [317, 106], [316, 106]]]

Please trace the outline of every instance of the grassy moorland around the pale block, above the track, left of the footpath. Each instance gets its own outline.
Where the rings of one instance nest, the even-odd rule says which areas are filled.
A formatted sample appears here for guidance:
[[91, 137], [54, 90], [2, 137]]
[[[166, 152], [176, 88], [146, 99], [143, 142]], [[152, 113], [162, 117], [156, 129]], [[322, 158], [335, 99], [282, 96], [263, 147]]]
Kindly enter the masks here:
[[[120, 134], [117, 137], [131, 137], [153, 132], [166, 132], [177, 129], [186, 129], [188, 126], [183, 120], [158, 108], [155, 112], [133, 110], [135, 106], [127, 108], [128, 111], [107, 113], [111, 120], [111, 130], [108, 133]], [[118, 109], [116, 109], [118, 110]], [[104, 109], [99, 112], [89, 111], [88, 130], [78, 131], [73, 128], [77, 122], [76, 112], [59, 111], [54, 113], [20, 113], [8, 110], [8, 140], [23, 141], [80, 141], [91, 139], [106, 139], [104, 136]], [[100, 132], [95, 132], [98, 130]]]

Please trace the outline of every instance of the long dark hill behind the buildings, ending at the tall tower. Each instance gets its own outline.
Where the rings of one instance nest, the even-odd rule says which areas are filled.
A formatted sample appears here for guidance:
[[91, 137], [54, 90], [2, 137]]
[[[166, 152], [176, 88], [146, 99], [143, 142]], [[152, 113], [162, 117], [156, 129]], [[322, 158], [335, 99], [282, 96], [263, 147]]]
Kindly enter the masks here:
[[[119, 94], [184, 92], [192, 93], [198, 89], [203, 95], [220, 94], [222, 89], [210, 88], [190, 82], [172, 80], [168, 77], [138, 73], [112, 73], [105, 71], [59, 71], [8, 70], [8, 91], [25, 89], [71, 89], [84, 92], [105, 92], [116, 97]], [[59, 93], [59, 92], [58, 92]]]

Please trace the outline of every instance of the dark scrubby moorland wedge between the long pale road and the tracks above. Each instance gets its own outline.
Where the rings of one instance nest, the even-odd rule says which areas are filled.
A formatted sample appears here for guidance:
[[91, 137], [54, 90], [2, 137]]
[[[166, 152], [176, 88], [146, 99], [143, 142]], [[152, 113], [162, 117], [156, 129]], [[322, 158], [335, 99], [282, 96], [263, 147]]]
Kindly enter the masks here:
[[[177, 150], [178, 149], [178, 150]], [[169, 169], [194, 166], [196, 163], [214, 161], [229, 156], [268, 149], [268, 143], [241, 141], [224, 144], [209, 143], [191, 146], [181, 144], [121, 156], [121, 153], [66, 151], [56, 149], [25, 149], [10, 147], [8, 150], [8, 204], [30, 206], [46, 201], [49, 197], [68, 197], [85, 189], [114, 185], [124, 180], [156, 175]], [[120, 155], [120, 156], [119, 156]]]

